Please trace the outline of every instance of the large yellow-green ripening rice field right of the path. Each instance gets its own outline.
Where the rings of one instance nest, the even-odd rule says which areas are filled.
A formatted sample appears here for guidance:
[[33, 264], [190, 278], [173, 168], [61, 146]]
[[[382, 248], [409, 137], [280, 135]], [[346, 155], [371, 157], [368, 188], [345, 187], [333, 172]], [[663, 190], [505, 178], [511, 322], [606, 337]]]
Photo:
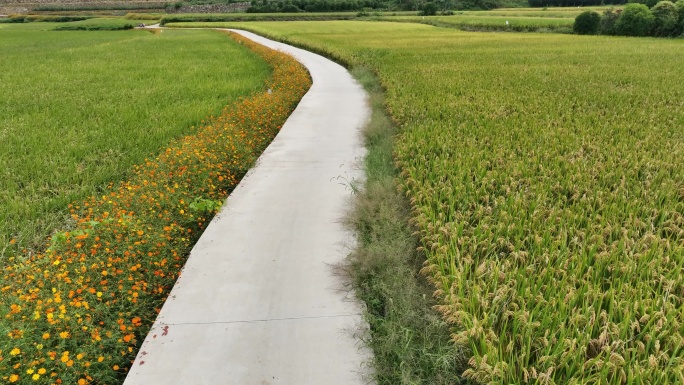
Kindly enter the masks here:
[[467, 379], [684, 382], [684, 41], [233, 26], [377, 71]]

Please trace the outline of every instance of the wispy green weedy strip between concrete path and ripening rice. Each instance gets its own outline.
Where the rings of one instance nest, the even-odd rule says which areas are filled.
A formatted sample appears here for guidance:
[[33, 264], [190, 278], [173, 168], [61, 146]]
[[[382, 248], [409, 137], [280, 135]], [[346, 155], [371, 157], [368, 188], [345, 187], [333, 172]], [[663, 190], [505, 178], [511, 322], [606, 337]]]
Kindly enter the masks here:
[[434, 289], [419, 274], [425, 257], [416, 251], [410, 205], [395, 181], [397, 127], [386, 113], [383, 89], [373, 72], [357, 67], [352, 74], [369, 94], [372, 115], [364, 130], [367, 179], [347, 218], [359, 242], [346, 271], [367, 305], [375, 380], [379, 385], [462, 383], [456, 379], [466, 355], [451, 343], [449, 326], [433, 310]]

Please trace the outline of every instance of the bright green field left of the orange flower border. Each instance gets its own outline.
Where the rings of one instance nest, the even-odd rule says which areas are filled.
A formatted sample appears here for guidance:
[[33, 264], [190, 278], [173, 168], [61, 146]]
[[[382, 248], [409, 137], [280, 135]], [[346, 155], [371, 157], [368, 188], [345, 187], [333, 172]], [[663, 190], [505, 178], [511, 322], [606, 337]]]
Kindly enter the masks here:
[[42, 247], [64, 228], [69, 203], [122, 179], [270, 73], [215, 32], [50, 31], [58, 25], [0, 25], [3, 260]]

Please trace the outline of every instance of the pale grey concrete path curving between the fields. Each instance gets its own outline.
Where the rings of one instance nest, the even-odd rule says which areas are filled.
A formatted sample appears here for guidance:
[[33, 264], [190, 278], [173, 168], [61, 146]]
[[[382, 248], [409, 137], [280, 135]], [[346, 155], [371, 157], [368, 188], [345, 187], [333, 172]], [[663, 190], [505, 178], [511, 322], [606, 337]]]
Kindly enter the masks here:
[[313, 86], [192, 250], [124, 384], [365, 384], [362, 308], [333, 273], [365, 93], [330, 60], [239, 33], [292, 54]]

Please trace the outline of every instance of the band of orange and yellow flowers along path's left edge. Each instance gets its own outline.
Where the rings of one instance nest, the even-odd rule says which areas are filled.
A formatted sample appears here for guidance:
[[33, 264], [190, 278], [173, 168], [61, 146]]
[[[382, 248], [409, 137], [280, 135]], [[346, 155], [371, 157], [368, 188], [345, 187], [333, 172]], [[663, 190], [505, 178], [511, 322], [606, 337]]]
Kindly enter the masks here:
[[190, 248], [311, 85], [293, 58], [233, 38], [273, 67], [270, 92], [73, 205], [72, 230], [0, 273], [0, 382], [123, 381]]

